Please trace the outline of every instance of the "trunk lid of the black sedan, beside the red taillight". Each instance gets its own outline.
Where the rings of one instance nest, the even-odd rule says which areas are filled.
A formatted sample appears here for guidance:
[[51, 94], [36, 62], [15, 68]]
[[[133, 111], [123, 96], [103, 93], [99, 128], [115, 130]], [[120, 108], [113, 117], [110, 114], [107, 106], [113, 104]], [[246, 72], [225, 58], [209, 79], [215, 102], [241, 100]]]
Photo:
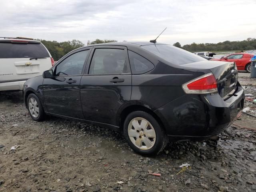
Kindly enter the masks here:
[[184, 64], [189, 68], [196, 68], [198, 70], [209, 69], [214, 74], [217, 84], [218, 93], [225, 100], [232, 96], [237, 88], [238, 70], [235, 62], [222, 62], [222, 61], [201, 61], [189, 64]]

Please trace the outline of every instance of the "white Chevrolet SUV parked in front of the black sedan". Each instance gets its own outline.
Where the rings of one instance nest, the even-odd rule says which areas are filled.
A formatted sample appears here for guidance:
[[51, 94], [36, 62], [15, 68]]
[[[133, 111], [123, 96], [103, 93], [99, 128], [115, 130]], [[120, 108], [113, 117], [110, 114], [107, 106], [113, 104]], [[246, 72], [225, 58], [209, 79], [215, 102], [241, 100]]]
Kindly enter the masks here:
[[54, 65], [50, 52], [30, 38], [0, 37], [0, 91], [22, 90], [24, 82]]

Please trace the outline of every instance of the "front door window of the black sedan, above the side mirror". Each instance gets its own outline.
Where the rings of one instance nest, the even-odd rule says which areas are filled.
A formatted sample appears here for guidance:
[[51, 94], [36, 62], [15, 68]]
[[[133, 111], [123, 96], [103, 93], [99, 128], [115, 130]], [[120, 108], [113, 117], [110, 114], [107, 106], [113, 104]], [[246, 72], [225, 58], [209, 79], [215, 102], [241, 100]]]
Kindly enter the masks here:
[[70, 55], [56, 66], [56, 76], [80, 75], [89, 50], [80, 51]]

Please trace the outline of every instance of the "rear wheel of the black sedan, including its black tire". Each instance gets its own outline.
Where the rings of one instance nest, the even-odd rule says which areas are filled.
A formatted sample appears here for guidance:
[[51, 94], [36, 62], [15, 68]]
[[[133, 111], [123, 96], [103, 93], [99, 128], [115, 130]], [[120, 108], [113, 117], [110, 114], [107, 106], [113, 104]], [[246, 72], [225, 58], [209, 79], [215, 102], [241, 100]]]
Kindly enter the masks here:
[[124, 136], [138, 154], [159, 154], [168, 143], [168, 136], [157, 120], [144, 111], [130, 113], [124, 121]]

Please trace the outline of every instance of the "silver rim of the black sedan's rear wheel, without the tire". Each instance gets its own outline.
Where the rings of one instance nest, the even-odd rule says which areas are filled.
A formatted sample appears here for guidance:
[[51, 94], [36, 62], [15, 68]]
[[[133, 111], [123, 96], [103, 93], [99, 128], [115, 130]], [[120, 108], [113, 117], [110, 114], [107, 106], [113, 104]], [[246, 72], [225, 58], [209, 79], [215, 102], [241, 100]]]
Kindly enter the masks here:
[[136, 117], [130, 121], [128, 136], [131, 142], [141, 150], [151, 149], [156, 142], [156, 132], [152, 124], [142, 117]]

